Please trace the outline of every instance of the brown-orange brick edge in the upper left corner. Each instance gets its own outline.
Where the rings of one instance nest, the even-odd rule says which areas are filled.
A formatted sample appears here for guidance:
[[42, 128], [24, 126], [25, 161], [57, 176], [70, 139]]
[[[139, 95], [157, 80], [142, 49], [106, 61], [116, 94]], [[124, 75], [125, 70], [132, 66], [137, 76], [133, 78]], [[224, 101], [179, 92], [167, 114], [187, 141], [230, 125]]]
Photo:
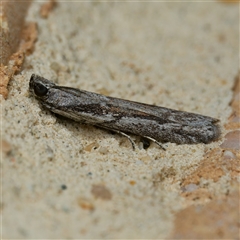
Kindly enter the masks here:
[[5, 99], [8, 96], [8, 82], [21, 70], [25, 55], [32, 53], [37, 39], [37, 24], [24, 23], [30, 3], [31, 0], [1, 2], [0, 94]]

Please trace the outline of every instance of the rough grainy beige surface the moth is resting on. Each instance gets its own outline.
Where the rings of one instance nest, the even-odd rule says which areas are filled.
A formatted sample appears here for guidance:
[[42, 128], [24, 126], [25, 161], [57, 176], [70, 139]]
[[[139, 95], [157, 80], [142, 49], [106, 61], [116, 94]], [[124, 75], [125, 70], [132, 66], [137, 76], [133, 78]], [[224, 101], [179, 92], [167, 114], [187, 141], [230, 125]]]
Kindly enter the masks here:
[[[60, 85], [208, 115], [221, 120], [224, 137], [237, 130], [228, 118], [238, 6], [58, 2], [47, 19], [40, 9], [35, 2], [28, 15], [39, 27], [35, 50], [10, 82], [9, 98], [1, 99], [3, 238], [162, 239], [179, 236], [179, 227], [184, 238], [192, 222], [193, 238], [234, 237], [240, 156], [219, 147], [224, 139], [167, 144], [162, 151], [153, 143], [143, 149], [135, 137], [134, 152], [122, 136], [41, 109], [28, 84], [36, 73]], [[231, 234], [226, 226], [233, 226]]]

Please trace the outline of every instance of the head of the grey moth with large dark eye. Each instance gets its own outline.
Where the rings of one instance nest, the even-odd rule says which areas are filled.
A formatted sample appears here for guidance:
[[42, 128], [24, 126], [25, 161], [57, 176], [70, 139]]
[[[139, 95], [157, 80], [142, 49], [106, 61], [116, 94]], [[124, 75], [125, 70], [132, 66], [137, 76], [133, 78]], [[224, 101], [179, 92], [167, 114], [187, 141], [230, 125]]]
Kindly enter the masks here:
[[49, 89], [53, 86], [55, 86], [54, 83], [35, 74], [32, 74], [29, 81], [29, 91], [39, 98], [46, 97]]

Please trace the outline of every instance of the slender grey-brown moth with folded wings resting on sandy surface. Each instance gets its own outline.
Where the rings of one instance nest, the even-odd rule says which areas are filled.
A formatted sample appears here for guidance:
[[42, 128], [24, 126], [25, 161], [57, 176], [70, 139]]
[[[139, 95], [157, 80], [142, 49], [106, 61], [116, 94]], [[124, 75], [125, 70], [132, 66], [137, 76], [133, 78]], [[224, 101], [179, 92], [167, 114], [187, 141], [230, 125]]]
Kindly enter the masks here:
[[127, 137], [128, 133], [158, 144], [210, 143], [219, 138], [219, 120], [196, 113], [108, 97], [76, 88], [57, 86], [32, 74], [29, 90], [51, 112], [80, 123], [108, 129]]

